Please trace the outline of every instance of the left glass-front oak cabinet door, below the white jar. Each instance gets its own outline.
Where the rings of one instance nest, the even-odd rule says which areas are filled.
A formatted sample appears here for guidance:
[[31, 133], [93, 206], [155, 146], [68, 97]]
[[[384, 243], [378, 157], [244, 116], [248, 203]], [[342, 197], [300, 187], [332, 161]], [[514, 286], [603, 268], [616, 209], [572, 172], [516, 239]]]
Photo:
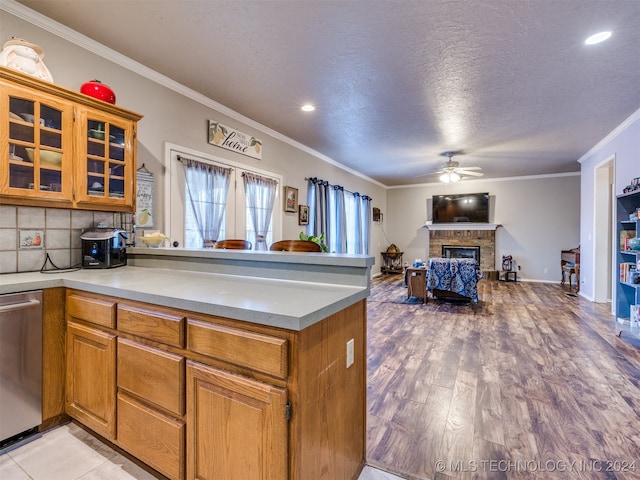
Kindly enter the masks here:
[[[72, 202], [73, 108], [49, 95], [3, 88], [0, 193], [64, 205]], [[6, 93], [4, 93], [6, 92]]]

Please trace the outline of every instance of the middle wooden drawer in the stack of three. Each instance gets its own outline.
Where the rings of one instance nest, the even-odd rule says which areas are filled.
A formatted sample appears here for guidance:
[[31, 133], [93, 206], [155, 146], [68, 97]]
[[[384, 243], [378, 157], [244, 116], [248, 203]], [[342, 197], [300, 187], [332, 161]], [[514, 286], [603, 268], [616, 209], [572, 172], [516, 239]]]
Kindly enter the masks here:
[[118, 338], [118, 387], [184, 415], [184, 357]]

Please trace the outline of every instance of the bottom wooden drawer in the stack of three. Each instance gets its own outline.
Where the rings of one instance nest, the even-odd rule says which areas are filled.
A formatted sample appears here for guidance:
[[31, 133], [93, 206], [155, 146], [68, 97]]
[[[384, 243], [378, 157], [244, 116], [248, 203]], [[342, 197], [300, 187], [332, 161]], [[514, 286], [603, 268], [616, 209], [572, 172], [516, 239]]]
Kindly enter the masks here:
[[163, 475], [184, 478], [185, 424], [118, 394], [118, 445]]

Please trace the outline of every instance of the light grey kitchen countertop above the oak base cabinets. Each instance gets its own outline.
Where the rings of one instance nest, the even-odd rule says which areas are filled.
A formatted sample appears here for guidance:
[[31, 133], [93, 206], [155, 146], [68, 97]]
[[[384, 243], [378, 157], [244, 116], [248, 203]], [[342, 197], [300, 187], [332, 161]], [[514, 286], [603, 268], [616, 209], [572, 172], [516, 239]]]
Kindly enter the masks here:
[[303, 330], [369, 295], [369, 287], [124, 266], [0, 275], [0, 294], [67, 287], [262, 325]]

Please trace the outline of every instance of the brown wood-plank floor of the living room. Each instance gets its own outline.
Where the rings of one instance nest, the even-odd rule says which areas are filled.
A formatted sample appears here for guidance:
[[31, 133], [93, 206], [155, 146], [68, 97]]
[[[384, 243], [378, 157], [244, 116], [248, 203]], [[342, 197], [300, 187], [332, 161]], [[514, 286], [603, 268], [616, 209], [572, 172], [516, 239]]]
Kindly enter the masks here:
[[367, 463], [409, 479], [640, 478], [640, 349], [609, 304], [479, 283], [480, 303], [368, 300]]

